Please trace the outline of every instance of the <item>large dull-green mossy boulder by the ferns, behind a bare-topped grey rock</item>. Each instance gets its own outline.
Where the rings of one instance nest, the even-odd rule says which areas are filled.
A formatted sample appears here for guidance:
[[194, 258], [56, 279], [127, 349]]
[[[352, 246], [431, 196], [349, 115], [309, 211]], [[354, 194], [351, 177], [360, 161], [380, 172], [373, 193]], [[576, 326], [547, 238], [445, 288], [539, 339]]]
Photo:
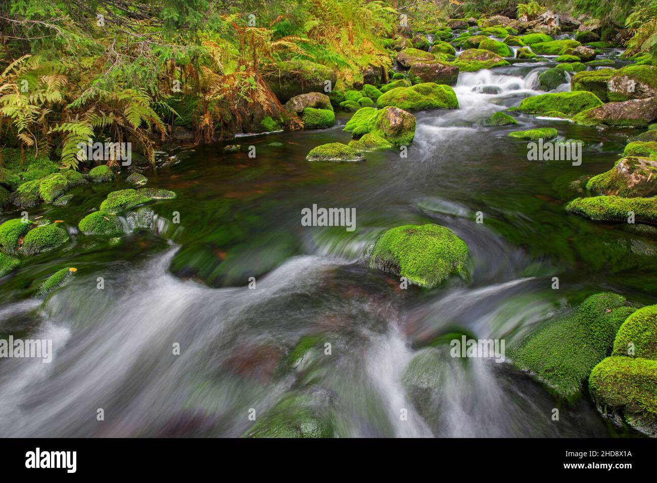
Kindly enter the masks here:
[[336, 83], [336, 73], [327, 66], [310, 60], [283, 60], [266, 69], [265, 79], [281, 103], [310, 92], [322, 92], [325, 82]]

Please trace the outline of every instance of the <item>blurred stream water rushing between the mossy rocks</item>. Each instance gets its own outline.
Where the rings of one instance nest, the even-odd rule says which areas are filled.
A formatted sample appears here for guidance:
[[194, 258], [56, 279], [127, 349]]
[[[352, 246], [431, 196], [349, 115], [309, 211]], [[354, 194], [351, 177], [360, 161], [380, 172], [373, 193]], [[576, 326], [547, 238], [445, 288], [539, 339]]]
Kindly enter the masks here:
[[[464, 333], [508, 347], [600, 290], [637, 302], [657, 293], [654, 231], [564, 210], [576, 196], [570, 182], [613, 166], [631, 131], [524, 114], [519, 126], [480, 124], [541, 93], [537, 76], [549, 65], [460, 74], [461, 108], [418, 113], [407, 158], [391, 150], [358, 164], [306, 162], [317, 145], [349, 141], [348, 114], [332, 129], [240, 137], [234, 154], [219, 144], [171, 147], [145, 174], [177, 198], [152, 205], [156, 230], [120, 241], [89, 240], [75, 227], [128, 187], [122, 181], [78, 187], [66, 208], [31, 212], [64, 220], [73, 242], [0, 282], [0, 336], [52, 339], [55, 350], [52, 363], [0, 360], [0, 434], [240, 436], [254, 424], [251, 409], [263, 415], [290, 394], [310, 395], [338, 436], [614, 434], [587, 395], [558, 402], [508, 361], [453, 359], [436, 343]], [[585, 142], [581, 166], [530, 161], [526, 143], [507, 137], [545, 126]], [[356, 230], [302, 226], [313, 204], [355, 208]], [[470, 250], [470, 281], [403, 290], [398, 277], [368, 269], [368, 244], [407, 223], [453, 229]], [[70, 266], [78, 272], [69, 285], [34, 296]], [[304, 336], [319, 348], [288, 364]], [[430, 359], [434, 379], [413, 386], [417, 356]]]

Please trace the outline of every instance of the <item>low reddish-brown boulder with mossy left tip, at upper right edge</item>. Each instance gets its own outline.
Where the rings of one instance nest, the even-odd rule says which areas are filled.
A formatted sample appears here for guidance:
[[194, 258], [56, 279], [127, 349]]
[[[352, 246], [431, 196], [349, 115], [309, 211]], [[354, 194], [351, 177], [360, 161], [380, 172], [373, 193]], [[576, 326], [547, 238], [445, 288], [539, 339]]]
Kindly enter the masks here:
[[657, 97], [606, 103], [580, 112], [572, 120], [586, 126], [646, 127], [657, 120]]

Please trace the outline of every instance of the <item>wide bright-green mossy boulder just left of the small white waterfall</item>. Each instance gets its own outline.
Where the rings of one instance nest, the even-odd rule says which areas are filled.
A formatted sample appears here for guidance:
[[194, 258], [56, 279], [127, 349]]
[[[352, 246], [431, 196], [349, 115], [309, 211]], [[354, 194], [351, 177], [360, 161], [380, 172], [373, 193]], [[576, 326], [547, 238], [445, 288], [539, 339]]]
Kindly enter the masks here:
[[380, 108], [395, 106], [403, 110], [457, 109], [454, 89], [449, 85], [424, 82], [411, 87], [396, 87], [378, 98], [376, 105]]

